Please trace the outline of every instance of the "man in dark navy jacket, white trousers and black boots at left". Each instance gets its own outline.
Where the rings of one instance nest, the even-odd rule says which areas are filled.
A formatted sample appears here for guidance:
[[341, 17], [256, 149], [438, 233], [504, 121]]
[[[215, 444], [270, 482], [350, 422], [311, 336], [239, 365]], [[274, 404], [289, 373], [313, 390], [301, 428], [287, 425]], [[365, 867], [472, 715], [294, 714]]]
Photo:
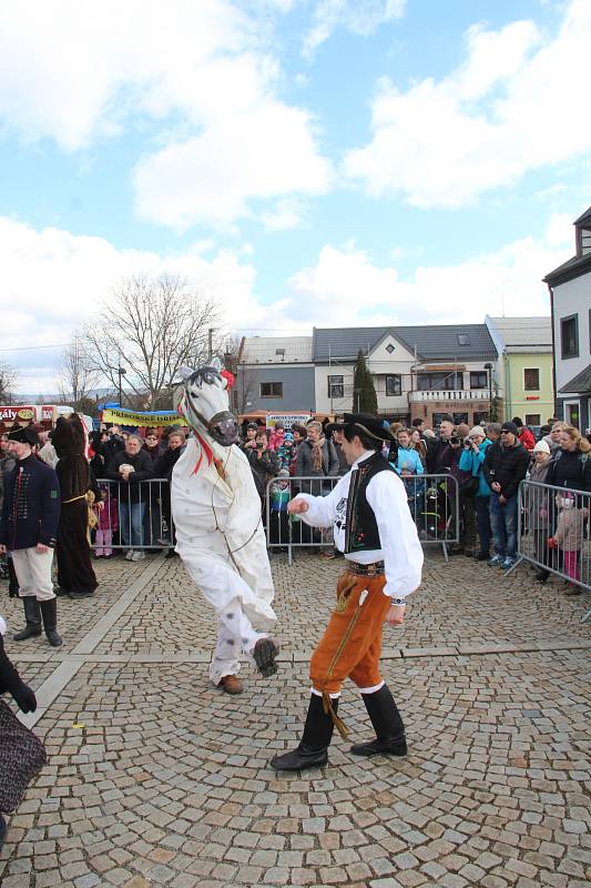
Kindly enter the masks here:
[[62, 639], [57, 629], [51, 564], [60, 518], [60, 484], [54, 470], [33, 454], [40, 443], [33, 428], [16, 428], [8, 438], [17, 466], [6, 478], [0, 553], [12, 553], [26, 619], [14, 640], [41, 635], [42, 619], [50, 645], [59, 647]]

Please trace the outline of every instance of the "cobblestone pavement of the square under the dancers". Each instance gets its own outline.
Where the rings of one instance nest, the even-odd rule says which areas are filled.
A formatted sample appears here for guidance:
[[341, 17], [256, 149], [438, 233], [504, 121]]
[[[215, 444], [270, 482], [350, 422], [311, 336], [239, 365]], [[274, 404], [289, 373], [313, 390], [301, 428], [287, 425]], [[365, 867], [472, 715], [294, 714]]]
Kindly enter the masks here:
[[[268, 767], [299, 737], [340, 567], [273, 559], [282, 668], [245, 668], [235, 698], [207, 682], [214, 623], [177, 559], [100, 564], [95, 598], [60, 601], [62, 648], [8, 640], [49, 764], [9, 819], [2, 888], [587, 886], [589, 599], [528, 568], [429, 553], [385, 633], [407, 758], [358, 760], [337, 736], [326, 768]], [[340, 713], [370, 736], [353, 687]]]

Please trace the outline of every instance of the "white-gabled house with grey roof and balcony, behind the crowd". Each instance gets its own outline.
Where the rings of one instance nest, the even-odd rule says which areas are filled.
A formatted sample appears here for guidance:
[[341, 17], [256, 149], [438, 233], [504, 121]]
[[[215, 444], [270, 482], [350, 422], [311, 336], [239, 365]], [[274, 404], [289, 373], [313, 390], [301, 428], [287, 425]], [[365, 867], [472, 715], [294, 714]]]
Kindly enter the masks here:
[[315, 329], [316, 411], [356, 406], [353, 386], [359, 351], [374, 377], [378, 411], [386, 418], [422, 418], [438, 425], [488, 420], [498, 352], [485, 324]]

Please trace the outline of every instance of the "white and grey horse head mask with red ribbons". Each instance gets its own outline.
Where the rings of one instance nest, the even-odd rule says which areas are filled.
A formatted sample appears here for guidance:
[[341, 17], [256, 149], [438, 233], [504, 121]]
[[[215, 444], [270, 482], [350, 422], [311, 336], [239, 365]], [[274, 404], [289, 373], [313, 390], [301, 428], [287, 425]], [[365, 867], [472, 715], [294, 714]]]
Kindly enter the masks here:
[[231, 374], [221, 370], [217, 359], [198, 370], [184, 370], [184, 393], [180, 412], [192, 428], [204, 430], [223, 447], [238, 441], [238, 424], [230, 412], [227, 392]]

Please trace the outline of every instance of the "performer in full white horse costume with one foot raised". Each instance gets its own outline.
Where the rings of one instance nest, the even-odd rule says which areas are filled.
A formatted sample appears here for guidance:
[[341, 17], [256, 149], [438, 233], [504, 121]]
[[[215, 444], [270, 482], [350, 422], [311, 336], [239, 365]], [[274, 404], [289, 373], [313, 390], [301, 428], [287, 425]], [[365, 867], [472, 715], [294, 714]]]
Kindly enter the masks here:
[[231, 374], [215, 364], [185, 381], [180, 411], [194, 436], [174, 466], [171, 501], [176, 552], [217, 614], [210, 667], [217, 685], [238, 673], [241, 652], [263, 675], [274, 674], [278, 648], [271, 639], [261, 642], [277, 619], [261, 500], [248, 461], [235, 445], [237, 424], [227, 398]]

